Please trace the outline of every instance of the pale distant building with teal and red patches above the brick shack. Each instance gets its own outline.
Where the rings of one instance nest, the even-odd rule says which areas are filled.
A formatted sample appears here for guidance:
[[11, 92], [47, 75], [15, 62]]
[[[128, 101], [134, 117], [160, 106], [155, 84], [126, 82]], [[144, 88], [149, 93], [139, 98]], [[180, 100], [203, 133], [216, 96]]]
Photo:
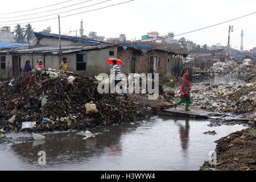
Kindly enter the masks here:
[[155, 43], [177, 43], [174, 39], [174, 32], [168, 32], [167, 35], [159, 35], [157, 31], [147, 32], [147, 35], [142, 35], [141, 42], [155, 42]]

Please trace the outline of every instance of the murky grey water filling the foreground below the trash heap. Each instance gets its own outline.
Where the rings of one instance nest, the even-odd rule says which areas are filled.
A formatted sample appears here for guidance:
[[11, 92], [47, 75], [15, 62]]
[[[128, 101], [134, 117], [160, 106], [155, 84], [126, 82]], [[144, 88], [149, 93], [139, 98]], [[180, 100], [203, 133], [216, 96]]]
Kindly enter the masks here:
[[[209, 121], [153, 117], [147, 122], [98, 127], [83, 140], [77, 132], [47, 134], [45, 142], [0, 144], [1, 170], [198, 170], [214, 141], [245, 126], [209, 127]], [[215, 130], [217, 135], [205, 135]], [[13, 140], [29, 134], [7, 134]], [[46, 165], [38, 152], [46, 152]]]

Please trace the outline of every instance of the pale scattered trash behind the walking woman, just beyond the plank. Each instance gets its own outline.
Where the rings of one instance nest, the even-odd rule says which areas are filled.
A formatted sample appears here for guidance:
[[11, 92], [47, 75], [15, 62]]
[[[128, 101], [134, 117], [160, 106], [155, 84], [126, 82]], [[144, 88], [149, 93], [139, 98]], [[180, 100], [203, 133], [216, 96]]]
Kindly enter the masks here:
[[[245, 86], [237, 84], [191, 84], [191, 88], [192, 107], [239, 114], [256, 110], [256, 82]], [[165, 87], [164, 91], [166, 90]], [[175, 92], [174, 97], [170, 100], [174, 104], [180, 100], [180, 87], [170, 90]]]

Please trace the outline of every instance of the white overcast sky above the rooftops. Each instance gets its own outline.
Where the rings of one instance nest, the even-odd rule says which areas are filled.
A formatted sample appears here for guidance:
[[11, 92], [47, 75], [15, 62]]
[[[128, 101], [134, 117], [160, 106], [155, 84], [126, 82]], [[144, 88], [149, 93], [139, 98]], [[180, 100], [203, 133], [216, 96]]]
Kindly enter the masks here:
[[[59, 34], [57, 19], [45, 20], [42, 22], [32, 21], [56, 18], [57, 14], [60, 16], [65, 16], [81, 13], [129, 0], [112, 0], [108, 2], [104, 2], [107, 0], [72, 0], [56, 6], [50, 6], [38, 10], [16, 14], [5, 14], [16, 11], [31, 10], [64, 1], [68, 0], [1, 1], [0, 27], [11, 26], [11, 29], [13, 30], [15, 25], [11, 24], [31, 22], [32, 27], [35, 28], [35, 31], [42, 31], [43, 29], [51, 26], [52, 33]], [[80, 2], [85, 3], [60, 10], [49, 11], [59, 9], [64, 6], [74, 5]], [[100, 2], [104, 3], [93, 5]], [[89, 7], [73, 10], [84, 6]], [[46, 11], [48, 12], [46, 13]], [[125, 34], [129, 40], [134, 38], [138, 40], [141, 39], [142, 35], [146, 35], [147, 32], [150, 31], [158, 31], [160, 35], [166, 35], [168, 32], [174, 32], [175, 35], [182, 34], [184, 32], [196, 30], [198, 28], [207, 27], [212, 24], [254, 13], [255, 11], [255, 0], [135, 0], [122, 5], [108, 7], [106, 9], [61, 18], [61, 34], [68, 34], [71, 30], [79, 30], [80, 21], [82, 19], [84, 22], [85, 35], [88, 35], [90, 31], [95, 31], [97, 32], [97, 35], [105, 36], [105, 38], [115, 38], [118, 37], [119, 34]], [[27, 14], [34, 15], [22, 16]], [[19, 17], [10, 18], [13, 16]], [[38, 16], [46, 17], [38, 18]], [[16, 22], [17, 20], [19, 21]], [[248, 50], [256, 47], [256, 14], [234, 20], [233, 22], [225, 23], [220, 26], [208, 28], [206, 30], [176, 36], [175, 39], [184, 37], [185, 39], [193, 40], [193, 42], [196, 44], [208, 44], [208, 46], [211, 46], [216, 43], [221, 43], [222, 46], [226, 46], [228, 44], [229, 24], [234, 26], [234, 32], [232, 32], [230, 35], [231, 46], [233, 48], [240, 49], [240, 34], [242, 28], [244, 33], [244, 49]], [[75, 32], [72, 32], [71, 35], [75, 35]]]

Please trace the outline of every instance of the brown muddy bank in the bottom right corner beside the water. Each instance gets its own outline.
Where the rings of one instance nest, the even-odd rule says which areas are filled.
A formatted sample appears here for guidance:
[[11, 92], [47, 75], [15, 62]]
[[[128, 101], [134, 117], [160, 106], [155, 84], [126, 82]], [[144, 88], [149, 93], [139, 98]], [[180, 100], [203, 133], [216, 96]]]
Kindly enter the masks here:
[[201, 171], [255, 171], [256, 129], [245, 129], [221, 138], [216, 146], [217, 162], [204, 162]]

